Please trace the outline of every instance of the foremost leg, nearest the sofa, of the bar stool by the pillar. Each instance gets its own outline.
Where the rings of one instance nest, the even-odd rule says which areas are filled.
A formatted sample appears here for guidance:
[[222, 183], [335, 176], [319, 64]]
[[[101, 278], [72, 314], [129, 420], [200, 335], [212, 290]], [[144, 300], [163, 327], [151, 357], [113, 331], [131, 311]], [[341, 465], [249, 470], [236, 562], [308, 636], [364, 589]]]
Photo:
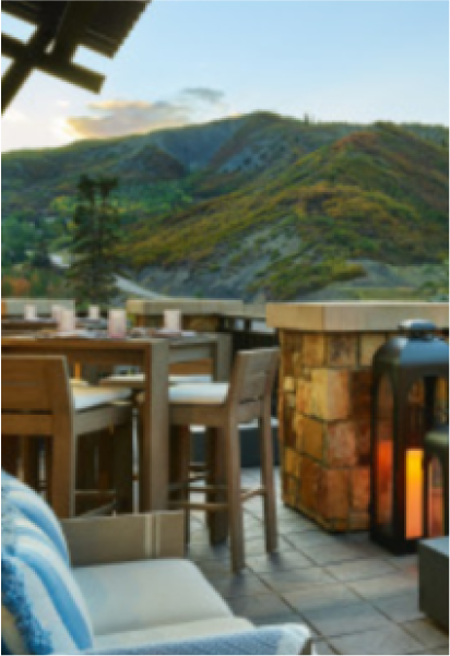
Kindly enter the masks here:
[[226, 466], [228, 486], [229, 533], [232, 541], [233, 571], [238, 574], [245, 564], [244, 513], [240, 474], [240, 441], [237, 421], [226, 428]]

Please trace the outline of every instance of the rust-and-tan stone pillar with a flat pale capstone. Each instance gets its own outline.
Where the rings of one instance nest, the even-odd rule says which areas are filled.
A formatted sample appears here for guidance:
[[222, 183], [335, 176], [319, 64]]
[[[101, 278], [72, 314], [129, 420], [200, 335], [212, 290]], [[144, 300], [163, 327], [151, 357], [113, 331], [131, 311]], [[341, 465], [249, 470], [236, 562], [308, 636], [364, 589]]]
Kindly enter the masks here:
[[280, 330], [282, 344], [283, 499], [330, 532], [369, 526], [376, 350], [404, 319], [421, 317], [450, 325], [450, 303], [417, 306], [268, 307], [268, 323]]

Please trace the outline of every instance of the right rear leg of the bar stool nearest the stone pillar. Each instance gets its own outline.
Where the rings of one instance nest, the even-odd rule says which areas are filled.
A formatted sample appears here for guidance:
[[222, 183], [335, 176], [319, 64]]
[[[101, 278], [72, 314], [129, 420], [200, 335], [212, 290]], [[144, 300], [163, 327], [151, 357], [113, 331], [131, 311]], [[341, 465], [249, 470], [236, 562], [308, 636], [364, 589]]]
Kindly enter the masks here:
[[276, 499], [275, 481], [273, 474], [273, 441], [270, 408], [265, 408], [260, 419], [261, 441], [261, 476], [264, 494], [264, 520], [265, 520], [265, 548], [268, 553], [273, 553], [279, 548], [279, 534], [276, 527]]

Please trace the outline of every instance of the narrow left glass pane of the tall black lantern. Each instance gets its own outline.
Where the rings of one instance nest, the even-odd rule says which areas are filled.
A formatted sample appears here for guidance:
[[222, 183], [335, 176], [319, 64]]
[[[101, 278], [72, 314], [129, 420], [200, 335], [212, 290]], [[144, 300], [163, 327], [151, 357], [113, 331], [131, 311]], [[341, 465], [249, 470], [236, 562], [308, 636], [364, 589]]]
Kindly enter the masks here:
[[393, 387], [390, 378], [380, 381], [377, 414], [377, 524], [393, 532], [394, 422]]

